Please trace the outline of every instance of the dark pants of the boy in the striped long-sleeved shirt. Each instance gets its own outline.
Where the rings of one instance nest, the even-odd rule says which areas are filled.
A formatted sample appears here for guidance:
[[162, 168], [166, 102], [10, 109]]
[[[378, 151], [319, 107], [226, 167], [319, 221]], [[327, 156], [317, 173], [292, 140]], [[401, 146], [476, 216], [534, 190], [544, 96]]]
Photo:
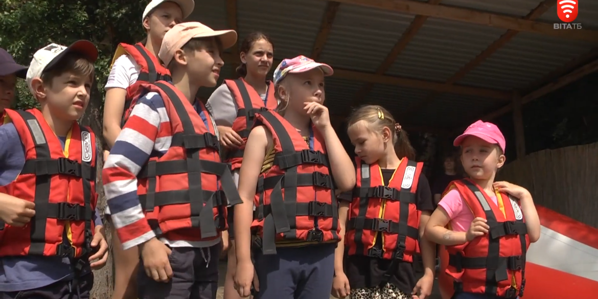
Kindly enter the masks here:
[[139, 263], [139, 299], [215, 299], [218, 291], [218, 257], [222, 244], [210, 248], [172, 248], [169, 261], [173, 277], [157, 282]]

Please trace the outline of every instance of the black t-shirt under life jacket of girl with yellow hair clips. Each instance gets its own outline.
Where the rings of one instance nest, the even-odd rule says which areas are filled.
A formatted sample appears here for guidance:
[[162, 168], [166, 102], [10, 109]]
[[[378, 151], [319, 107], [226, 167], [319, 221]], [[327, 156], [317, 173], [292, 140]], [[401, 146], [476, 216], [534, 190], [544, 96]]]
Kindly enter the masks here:
[[[384, 178], [385, 185], [388, 185], [394, 172], [394, 169], [382, 169], [382, 177]], [[418, 210], [434, 210], [430, 185], [423, 173], [420, 174], [419, 181], [417, 182], [416, 206]], [[377, 238], [376, 245], [374, 246], [380, 246], [379, 240], [381, 239]], [[365, 255], [349, 255], [344, 259], [344, 273], [347, 274], [349, 285], [352, 289], [374, 288], [382, 282], [382, 277], [390, 266], [390, 262], [391, 260], [367, 257]], [[405, 294], [411, 294], [416, 284], [413, 263], [399, 262], [389, 282], [405, 292]]]

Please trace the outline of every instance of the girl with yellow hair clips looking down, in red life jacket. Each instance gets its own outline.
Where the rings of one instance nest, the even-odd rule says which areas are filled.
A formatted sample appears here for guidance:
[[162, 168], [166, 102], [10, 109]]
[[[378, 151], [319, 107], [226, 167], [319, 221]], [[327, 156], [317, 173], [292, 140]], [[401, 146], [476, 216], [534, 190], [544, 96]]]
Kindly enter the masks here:
[[[366, 105], [347, 121], [357, 157], [356, 186], [341, 195], [341, 234], [332, 295], [337, 298], [426, 298], [434, 282], [434, 243], [422, 238], [434, 210], [423, 163], [392, 115]], [[418, 245], [419, 243], [419, 245]], [[421, 248], [425, 273], [416, 280]]]

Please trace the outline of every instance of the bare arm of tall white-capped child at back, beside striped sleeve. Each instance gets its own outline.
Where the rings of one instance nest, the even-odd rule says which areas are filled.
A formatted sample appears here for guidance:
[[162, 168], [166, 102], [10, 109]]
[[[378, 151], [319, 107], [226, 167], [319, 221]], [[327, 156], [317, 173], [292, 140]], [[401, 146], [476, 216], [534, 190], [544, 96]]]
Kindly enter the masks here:
[[124, 101], [127, 90], [112, 87], [106, 90], [104, 102], [103, 136], [109, 147], [114, 147], [114, 142], [120, 134], [120, 122], [124, 114]]

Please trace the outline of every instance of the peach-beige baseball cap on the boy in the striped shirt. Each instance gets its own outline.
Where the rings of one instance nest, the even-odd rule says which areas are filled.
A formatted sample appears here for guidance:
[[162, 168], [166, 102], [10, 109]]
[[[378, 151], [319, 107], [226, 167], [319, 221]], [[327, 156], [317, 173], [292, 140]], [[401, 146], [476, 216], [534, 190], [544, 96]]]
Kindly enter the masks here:
[[222, 42], [222, 48], [233, 47], [237, 42], [235, 30], [214, 30], [199, 22], [185, 22], [175, 25], [168, 30], [162, 40], [158, 57], [168, 66], [175, 51], [182, 48], [191, 38], [206, 38], [217, 36]]

